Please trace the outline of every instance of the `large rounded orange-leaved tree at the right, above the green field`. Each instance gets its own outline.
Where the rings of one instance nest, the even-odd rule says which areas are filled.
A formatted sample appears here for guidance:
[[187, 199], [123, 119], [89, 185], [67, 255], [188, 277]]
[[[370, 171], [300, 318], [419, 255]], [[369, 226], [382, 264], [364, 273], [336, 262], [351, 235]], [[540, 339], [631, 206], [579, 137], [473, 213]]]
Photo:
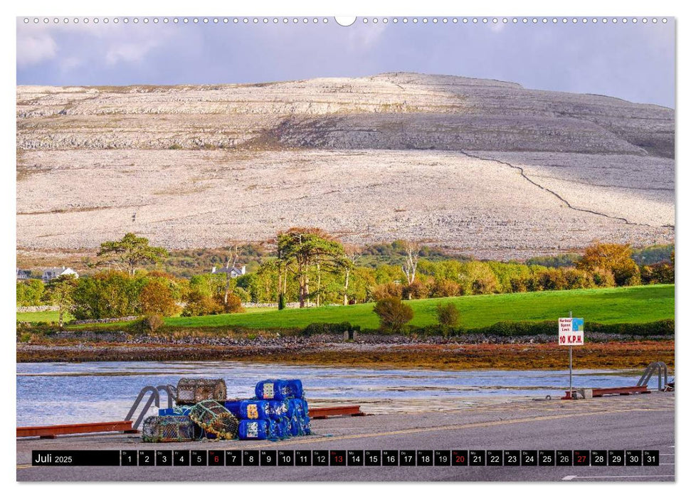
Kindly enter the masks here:
[[586, 271], [595, 268], [610, 270], [616, 285], [640, 284], [640, 269], [631, 258], [631, 246], [628, 244], [595, 243], [586, 248], [576, 267]]

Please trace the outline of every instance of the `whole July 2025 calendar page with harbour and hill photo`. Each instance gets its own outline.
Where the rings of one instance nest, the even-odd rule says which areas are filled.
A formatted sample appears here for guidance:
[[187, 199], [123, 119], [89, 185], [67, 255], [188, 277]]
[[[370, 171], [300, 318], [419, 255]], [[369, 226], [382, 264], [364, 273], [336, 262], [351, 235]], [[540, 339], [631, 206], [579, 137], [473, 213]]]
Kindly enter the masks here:
[[673, 16], [59, 10], [16, 480], [675, 480]]

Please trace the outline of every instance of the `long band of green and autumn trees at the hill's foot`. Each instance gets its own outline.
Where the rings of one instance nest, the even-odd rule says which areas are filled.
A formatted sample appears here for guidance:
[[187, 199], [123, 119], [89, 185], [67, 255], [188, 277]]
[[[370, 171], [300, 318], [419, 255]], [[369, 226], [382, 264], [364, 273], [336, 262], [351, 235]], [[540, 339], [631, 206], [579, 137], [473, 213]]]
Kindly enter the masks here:
[[[674, 251], [667, 262], [639, 265], [629, 245], [595, 243], [574, 265], [547, 267], [499, 261], [428, 258], [431, 251], [401, 241], [401, 264], [363, 264], [364, 250], [318, 228], [290, 228], [272, 241], [273, 255], [255, 272], [174, 277], [145, 266], [162, 265], [168, 252], [127, 233], [102, 243], [92, 275], [44, 284], [17, 282], [17, 305], [53, 304], [77, 319], [130, 315], [196, 316], [243, 311], [243, 302], [288, 302], [300, 307], [355, 304], [541, 290], [673, 283]], [[243, 261], [243, 243], [224, 250], [226, 269]]]

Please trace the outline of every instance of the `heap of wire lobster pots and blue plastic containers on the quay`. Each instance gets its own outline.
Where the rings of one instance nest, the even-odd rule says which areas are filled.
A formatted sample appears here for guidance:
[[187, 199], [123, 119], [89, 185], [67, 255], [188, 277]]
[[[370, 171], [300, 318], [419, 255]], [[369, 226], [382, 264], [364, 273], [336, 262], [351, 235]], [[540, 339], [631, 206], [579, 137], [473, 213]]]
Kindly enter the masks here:
[[302, 382], [297, 379], [260, 381], [256, 396], [245, 400], [227, 400], [226, 392], [223, 379], [181, 378], [176, 406], [144, 420], [142, 440], [278, 440], [311, 432]]

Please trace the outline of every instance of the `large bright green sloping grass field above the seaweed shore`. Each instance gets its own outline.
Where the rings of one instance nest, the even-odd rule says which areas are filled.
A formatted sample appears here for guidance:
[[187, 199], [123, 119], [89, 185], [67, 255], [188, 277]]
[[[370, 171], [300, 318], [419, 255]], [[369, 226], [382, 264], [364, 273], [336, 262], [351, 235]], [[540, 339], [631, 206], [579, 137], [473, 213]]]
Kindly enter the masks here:
[[[460, 324], [468, 329], [497, 322], [542, 321], [584, 317], [602, 324], [645, 323], [674, 318], [674, 285], [646, 285], [608, 289], [525, 292], [520, 294], [445, 297], [407, 301], [415, 317], [411, 325], [436, 324], [438, 303], [454, 302], [460, 310]], [[252, 309], [238, 314], [206, 317], [172, 317], [165, 320], [172, 327], [227, 327], [253, 329], [303, 328], [311, 323], [350, 322], [367, 329], [379, 327], [372, 312], [373, 303], [309, 309]]]

